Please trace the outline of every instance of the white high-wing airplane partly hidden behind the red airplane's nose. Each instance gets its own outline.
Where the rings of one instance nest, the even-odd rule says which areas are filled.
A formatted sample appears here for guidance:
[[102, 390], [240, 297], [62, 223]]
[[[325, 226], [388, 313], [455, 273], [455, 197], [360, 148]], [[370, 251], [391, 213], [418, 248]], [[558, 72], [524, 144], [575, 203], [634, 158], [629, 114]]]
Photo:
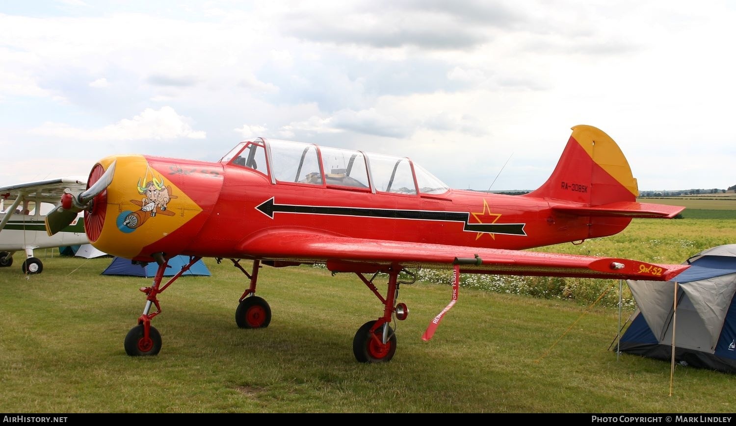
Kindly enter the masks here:
[[87, 178], [60, 177], [0, 187], [0, 267], [12, 265], [13, 254], [23, 250], [26, 252], [21, 265], [24, 274], [40, 274], [43, 263], [33, 256], [34, 249], [89, 243], [84, 221], [80, 220], [83, 213], [62, 232], [52, 236], [46, 232], [46, 213], [59, 204], [66, 188], [84, 191]]

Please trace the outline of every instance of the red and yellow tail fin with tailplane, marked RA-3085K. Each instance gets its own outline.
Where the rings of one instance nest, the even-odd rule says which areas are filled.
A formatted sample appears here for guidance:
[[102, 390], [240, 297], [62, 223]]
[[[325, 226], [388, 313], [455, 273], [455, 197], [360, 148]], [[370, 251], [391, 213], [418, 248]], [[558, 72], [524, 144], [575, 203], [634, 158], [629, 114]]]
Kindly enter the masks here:
[[579, 216], [672, 218], [684, 210], [639, 203], [638, 195], [637, 180], [618, 144], [601, 129], [578, 125], [547, 182], [525, 196], [548, 199], [553, 210]]

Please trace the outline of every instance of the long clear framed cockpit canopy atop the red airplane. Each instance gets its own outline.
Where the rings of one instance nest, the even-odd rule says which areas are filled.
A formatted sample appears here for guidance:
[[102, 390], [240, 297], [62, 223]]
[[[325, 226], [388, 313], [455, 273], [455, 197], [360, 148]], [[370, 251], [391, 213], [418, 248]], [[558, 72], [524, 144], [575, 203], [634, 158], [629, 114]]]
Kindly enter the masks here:
[[[373, 154], [314, 143], [255, 138], [238, 143], [220, 160], [252, 168], [272, 183], [330, 185], [393, 194], [444, 194], [441, 180], [408, 157]], [[418, 191], [417, 191], [418, 188]]]

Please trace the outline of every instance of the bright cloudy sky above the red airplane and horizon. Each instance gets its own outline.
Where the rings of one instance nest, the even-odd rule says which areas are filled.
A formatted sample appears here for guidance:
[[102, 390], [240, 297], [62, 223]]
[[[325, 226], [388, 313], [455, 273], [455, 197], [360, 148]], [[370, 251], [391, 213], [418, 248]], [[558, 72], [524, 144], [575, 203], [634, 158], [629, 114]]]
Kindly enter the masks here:
[[0, 0], [0, 185], [254, 136], [537, 188], [570, 127], [639, 188], [736, 185], [736, 2]]

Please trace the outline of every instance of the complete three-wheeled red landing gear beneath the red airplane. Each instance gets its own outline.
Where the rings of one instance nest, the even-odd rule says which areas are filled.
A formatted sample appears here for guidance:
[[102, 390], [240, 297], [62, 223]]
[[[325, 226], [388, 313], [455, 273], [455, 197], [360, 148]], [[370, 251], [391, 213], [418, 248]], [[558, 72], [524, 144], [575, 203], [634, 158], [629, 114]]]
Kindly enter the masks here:
[[[162, 256], [157, 259], [158, 271], [154, 278], [153, 285], [141, 288], [146, 297], [146, 307], [143, 314], [138, 318], [138, 325], [132, 327], [125, 337], [125, 352], [130, 356], [146, 356], [157, 355], [161, 350], [161, 335], [158, 330], [151, 325], [151, 319], [161, 313], [157, 295], [166, 290], [174, 280], [177, 280], [185, 271], [187, 271], [199, 257], [191, 257], [187, 265], [182, 270], [171, 277], [171, 279], [163, 286], [160, 286], [163, 278], [163, 272], [166, 271], [168, 261], [163, 260]], [[218, 263], [221, 259], [217, 259]], [[255, 296], [255, 287], [258, 282], [258, 269], [261, 269], [261, 261], [253, 260], [253, 267], [250, 273], [241, 265], [240, 260], [230, 259], [236, 268], [240, 269], [248, 280], [249, 287], [238, 299], [238, 308], [235, 313], [235, 321], [240, 328], [265, 328], [271, 322], [271, 307], [265, 299]], [[269, 263], [271, 264], [271, 263]], [[293, 265], [293, 264], [292, 264]], [[272, 263], [272, 266], [287, 266], [286, 264]], [[397, 320], [404, 320], [408, 316], [408, 308], [403, 303], [396, 303], [399, 294], [400, 284], [411, 284], [417, 280], [417, 277], [411, 272], [406, 271], [399, 265], [386, 267], [372, 266], [366, 268], [362, 265], [353, 265], [350, 263], [330, 263], [328, 269], [333, 273], [336, 272], [353, 272], [358, 275], [363, 283], [370, 291], [381, 300], [383, 304], [383, 316], [378, 319], [366, 322], [355, 333], [353, 338], [353, 355], [355, 359], [361, 363], [380, 363], [391, 361], [396, 352], [396, 333], [390, 326], [395, 316]], [[411, 281], [399, 281], [398, 276], [401, 271], [405, 271], [411, 275]], [[373, 276], [367, 279], [364, 274], [372, 273]], [[389, 275], [388, 288], [386, 297], [379, 293], [378, 288], [373, 284], [373, 280], [379, 273]], [[156, 311], [151, 312], [152, 306], [155, 305]]]

